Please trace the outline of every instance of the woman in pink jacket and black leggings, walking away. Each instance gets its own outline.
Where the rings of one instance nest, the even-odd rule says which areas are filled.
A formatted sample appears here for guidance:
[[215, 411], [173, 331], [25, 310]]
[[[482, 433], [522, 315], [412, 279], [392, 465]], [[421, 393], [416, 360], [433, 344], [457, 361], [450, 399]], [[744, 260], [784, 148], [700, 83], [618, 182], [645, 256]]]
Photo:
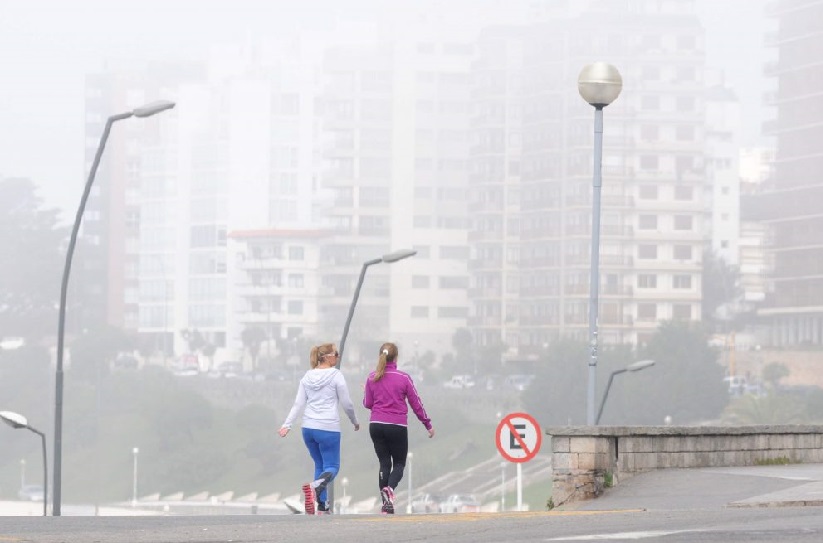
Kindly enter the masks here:
[[378, 486], [383, 514], [394, 514], [394, 489], [400, 484], [406, 467], [409, 452], [407, 402], [426, 427], [429, 437], [434, 437], [431, 419], [423, 408], [412, 378], [397, 369], [397, 345], [384, 343], [380, 347], [377, 369], [366, 379], [363, 397], [363, 406], [371, 410], [369, 436], [380, 462]]

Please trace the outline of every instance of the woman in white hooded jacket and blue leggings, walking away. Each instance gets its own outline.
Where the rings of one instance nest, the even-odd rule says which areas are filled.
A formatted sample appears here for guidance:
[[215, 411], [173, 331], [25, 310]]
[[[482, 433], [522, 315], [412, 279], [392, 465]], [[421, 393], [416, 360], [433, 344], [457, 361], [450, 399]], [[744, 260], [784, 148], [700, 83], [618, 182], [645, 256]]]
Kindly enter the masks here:
[[[314, 480], [303, 485], [307, 515], [328, 513], [326, 486], [340, 470], [340, 414], [342, 406], [355, 431], [360, 429], [346, 379], [335, 368], [340, 354], [332, 343], [312, 347], [311, 368], [297, 387], [289, 416], [280, 427], [286, 437], [297, 414], [303, 411], [303, 442], [314, 460]], [[317, 508], [315, 509], [315, 501]]]

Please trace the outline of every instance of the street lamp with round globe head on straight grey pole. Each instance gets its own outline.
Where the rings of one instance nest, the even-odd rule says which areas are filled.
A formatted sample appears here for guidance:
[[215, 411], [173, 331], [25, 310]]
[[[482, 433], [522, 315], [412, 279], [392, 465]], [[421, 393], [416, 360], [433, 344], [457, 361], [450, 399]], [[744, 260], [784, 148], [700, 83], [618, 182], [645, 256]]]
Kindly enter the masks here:
[[584, 66], [577, 77], [577, 91], [594, 106], [594, 177], [592, 179], [592, 257], [589, 278], [589, 388], [587, 424], [594, 424], [594, 384], [597, 368], [597, 295], [600, 288], [600, 189], [603, 186], [603, 108], [614, 102], [623, 88], [620, 72], [611, 64]]

